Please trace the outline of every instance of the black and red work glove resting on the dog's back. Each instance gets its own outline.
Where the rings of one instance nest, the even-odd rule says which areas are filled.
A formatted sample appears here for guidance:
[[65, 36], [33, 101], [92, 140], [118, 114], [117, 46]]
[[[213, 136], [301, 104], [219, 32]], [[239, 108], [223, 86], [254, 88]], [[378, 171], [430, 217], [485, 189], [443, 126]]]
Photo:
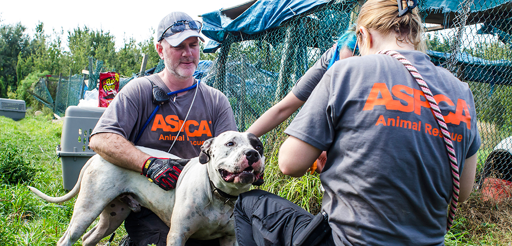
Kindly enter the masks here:
[[176, 188], [183, 167], [190, 159], [167, 159], [150, 157], [142, 166], [142, 174], [164, 190]]

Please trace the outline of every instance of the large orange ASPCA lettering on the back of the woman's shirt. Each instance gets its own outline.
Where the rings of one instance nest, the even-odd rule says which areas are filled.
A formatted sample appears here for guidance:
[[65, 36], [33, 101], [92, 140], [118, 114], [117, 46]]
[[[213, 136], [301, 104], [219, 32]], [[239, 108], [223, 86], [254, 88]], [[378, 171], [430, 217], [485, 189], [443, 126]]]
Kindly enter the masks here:
[[[407, 105], [403, 105], [400, 100], [393, 99], [392, 94], [405, 101]], [[421, 90], [406, 85], [394, 85], [390, 92], [385, 83], [375, 83], [362, 110], [373, 110], [375, 106], [384, 105], [388, 110], [414, 112], [416, 115], [421, 115], [421, 107], [430, 108], [429, 102], [422, 101], [421, 97], [425, 98], [425, 94]], [[467, 129], [471, 129], [471, 115], [466, 101], [458, 99], [457, 104], [455, 104], [450, 98], [442, 94], [435, 95], [434, 99], [438, 104], [445, 102], [450, 106], [455, 106], [455, 113], [450, 112], [443, 116], [446, 123], [459, 125], [460, 122], [465, 122]]]

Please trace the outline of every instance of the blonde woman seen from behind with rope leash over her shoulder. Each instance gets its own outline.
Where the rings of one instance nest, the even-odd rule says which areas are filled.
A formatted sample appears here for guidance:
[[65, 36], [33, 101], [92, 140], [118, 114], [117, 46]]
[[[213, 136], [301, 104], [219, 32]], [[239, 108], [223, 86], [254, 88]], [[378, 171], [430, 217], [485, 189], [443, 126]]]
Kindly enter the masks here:
[[[336, 62], [285, 131], [290, 136], [279, 166], [287, 175], [303, 175], [327, 150], [322, 213], [313, 217], [264, 191], [241, 194], [234, 212], [239, 245], [289, 245], [321, 232], [325, 236], [311, 245], [444, 245], [446, 208], [457, 201], [451, 167], [460, 171], [458, 202], [475, 179], [480, 137], [474, 99], [466, 83], [418, 51], [421, 18], [407, 5], [400, 16], [398, 7], [394, 0], [362, 6], [356, 26], [362, 56]], [[412, 65], [376, 54], [381, 50], [396, 50]], [[439, 137], [442, 123], [412, 66], [440, 107], [453, 165], [450, 139]], [[323, 217], [327, 229], [315, 231]]]

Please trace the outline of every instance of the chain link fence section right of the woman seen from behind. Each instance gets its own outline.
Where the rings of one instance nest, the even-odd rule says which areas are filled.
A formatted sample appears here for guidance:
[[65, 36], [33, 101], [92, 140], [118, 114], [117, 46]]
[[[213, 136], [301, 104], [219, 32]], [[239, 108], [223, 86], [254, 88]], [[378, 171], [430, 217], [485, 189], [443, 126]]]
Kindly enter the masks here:
[[503, 3], [462, 1], [452, 18], [427, 28], [441, 29], [426, 34], [432, 61], [474, 94], [482, 138], [476, 186], [497, 199], [512, 197], [510, 188], [497, 189], [512, 185], [512, 25], [510, 3]]

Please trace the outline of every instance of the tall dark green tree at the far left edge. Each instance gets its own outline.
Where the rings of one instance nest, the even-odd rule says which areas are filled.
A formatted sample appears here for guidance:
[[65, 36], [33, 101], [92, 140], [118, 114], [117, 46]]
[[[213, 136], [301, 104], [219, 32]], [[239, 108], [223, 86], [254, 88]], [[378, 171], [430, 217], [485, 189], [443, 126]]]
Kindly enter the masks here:
[[0, 26], [0, 97], [16, 90], [18, 57], [28, 54], [29, 38], [24, 34], [25, 29], [20, 23]]

